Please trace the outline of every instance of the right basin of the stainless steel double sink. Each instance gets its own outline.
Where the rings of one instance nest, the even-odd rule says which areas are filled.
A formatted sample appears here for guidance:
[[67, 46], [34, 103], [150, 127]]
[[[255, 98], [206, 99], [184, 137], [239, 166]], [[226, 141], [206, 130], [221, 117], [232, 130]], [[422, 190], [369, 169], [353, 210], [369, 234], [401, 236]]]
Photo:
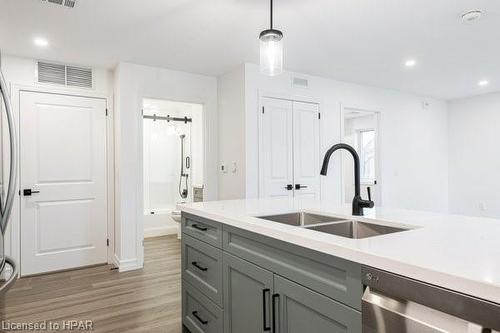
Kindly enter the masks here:
[[332, 235], [337, 235], [347, 238], [368, 238], [379, 235], [392, 234], [410, 230], [408, 228], [390, 227], [381, 224], [367, 223], [360, 221], [345, 221], [338, 223], [328, 223], [306, 227], [310, 230], [325, 232]]

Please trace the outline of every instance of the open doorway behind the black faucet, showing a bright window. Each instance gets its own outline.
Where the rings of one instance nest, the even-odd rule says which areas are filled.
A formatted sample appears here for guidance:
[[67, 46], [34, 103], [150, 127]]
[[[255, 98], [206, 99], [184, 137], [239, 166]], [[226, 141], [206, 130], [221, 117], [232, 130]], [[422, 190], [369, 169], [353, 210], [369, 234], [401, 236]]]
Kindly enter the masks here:
[[[342, 142], [354, 147], [359, 155], [361, 195], [366, 198], [370, 188], [372, 200], [380, 206], [379, 113], [344, 107], [342, 114]], [[352, 163], [351, 156], [342, 153], [342, 193], [346, 204], [354, 197]]]

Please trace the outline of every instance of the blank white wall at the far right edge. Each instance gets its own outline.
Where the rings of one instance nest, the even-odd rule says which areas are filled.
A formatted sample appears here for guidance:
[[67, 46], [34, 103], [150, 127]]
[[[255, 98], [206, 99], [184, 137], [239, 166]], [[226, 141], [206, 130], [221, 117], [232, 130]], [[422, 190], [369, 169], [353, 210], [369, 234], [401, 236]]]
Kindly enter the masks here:
[[500, 218], [500, 93], [449, 106], [450, 212]]

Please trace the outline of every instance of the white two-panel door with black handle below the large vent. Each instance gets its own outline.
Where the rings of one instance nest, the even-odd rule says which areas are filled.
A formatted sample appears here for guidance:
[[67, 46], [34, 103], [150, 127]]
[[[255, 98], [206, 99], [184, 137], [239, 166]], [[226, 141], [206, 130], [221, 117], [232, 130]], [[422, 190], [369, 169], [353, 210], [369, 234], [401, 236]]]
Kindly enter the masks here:
[[103, 99], [21, 92], [22, 275], [107, 261], [105, 110]]

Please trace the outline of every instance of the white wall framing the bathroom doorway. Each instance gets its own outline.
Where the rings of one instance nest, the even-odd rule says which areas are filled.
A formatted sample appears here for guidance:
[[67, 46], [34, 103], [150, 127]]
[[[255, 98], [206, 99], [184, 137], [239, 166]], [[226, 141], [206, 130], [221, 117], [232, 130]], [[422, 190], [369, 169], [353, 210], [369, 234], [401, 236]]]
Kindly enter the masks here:
[[120, 270], [143, 265], [143, 98], [204, 105], [204, 194], [207, 200], [217, 198], [216, 78], [120, 63], [115, 70], [115, 242]]

